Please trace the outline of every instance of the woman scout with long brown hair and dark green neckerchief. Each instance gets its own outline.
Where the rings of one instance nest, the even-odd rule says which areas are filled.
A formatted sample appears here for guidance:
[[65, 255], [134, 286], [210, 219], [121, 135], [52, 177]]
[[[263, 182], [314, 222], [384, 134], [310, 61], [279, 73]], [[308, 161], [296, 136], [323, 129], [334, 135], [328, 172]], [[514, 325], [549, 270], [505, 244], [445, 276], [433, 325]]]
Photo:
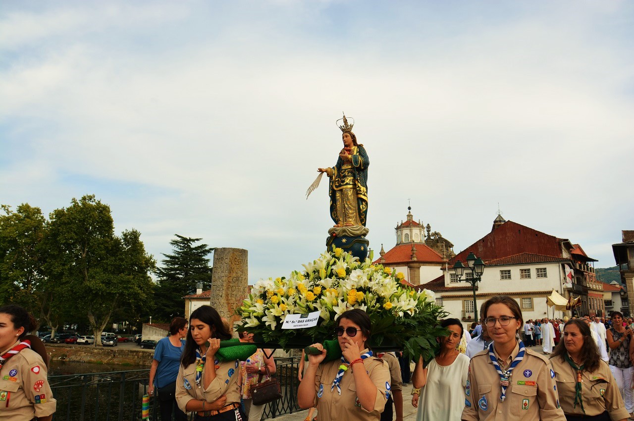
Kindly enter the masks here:
[[564, 325], [564, 338], [550, 362], [568, 421], [624, 421], [630, 417], [585, 320], [573, 319]]

